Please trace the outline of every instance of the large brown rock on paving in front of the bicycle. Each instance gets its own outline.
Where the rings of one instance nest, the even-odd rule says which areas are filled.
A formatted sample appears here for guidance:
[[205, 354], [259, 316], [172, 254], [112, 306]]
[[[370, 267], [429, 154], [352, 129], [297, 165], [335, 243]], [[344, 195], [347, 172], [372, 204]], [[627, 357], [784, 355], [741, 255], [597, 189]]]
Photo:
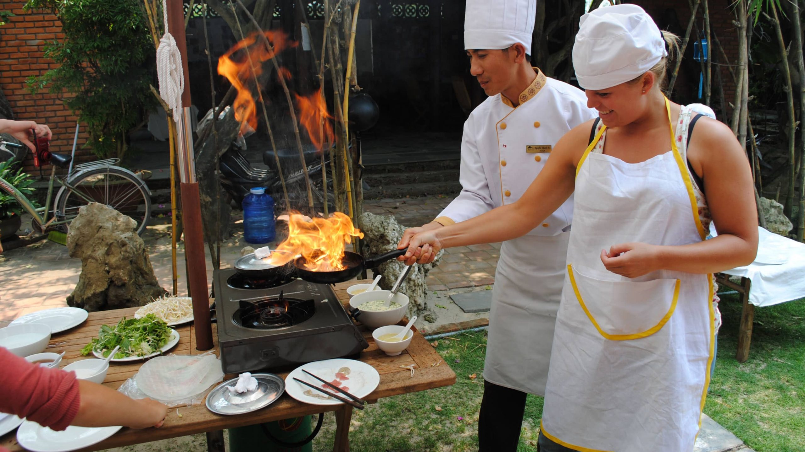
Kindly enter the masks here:
[[79, 209], [67, 235], [70, 257], [81, 259], [81, 277], [67, 298], [69, 306], [120, 309], [165, 294], [135, 227], [134, 220], [103, 204]]

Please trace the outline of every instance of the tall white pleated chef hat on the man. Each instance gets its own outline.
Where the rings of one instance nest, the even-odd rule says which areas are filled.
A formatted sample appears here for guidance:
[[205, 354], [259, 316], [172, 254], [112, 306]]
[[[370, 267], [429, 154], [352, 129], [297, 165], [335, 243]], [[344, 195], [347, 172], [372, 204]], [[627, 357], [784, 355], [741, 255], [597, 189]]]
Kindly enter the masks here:
[[467, 0], [464, 49], [504, 49], [515, 43], [531, 54], [537, 0]]

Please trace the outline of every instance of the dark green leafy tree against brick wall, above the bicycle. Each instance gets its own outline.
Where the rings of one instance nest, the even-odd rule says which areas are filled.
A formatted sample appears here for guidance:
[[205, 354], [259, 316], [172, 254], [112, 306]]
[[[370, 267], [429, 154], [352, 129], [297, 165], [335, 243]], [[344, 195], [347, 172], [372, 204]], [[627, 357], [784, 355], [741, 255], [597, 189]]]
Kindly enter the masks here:
[[68, 93], [64, 104], [87, 125], [93, 153], [122, 158], [128, 133], [155, 105], [154, 43], [138, 0], [29, 0], [25, 9], [55, 14], [64, 32], [44, 46], [59, 67], [30, 77], [31, 92]]

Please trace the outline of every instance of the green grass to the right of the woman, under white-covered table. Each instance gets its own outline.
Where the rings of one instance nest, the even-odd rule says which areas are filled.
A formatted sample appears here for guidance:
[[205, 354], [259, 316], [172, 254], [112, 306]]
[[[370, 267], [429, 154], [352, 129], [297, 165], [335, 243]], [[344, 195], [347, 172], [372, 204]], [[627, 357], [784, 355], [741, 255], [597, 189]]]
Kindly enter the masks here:
[[716, 374], [704, 413], [757, 452], [805, 450], [805, 300], [755, 309], [749, 360], [735, 360], [741, 303], [720, 306]]

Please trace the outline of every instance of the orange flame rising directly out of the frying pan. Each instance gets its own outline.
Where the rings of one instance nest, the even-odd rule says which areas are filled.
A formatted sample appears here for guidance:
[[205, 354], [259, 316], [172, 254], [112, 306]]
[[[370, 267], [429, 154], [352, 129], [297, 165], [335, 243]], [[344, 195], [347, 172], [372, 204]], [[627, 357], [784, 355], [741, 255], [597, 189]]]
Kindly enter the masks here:
[[288, 218], [288, 238], [271, 253], [270, 262], [284, 265], [301, 255], [305, 268], [315, 272], [332, 272], [345, 269], [341, 263], [344, 250], [352, 237], [363, 238], [363, 232], [353, 226], [349, 216], [335, 212], [329, 218], [313, 218], [299, 213]]

